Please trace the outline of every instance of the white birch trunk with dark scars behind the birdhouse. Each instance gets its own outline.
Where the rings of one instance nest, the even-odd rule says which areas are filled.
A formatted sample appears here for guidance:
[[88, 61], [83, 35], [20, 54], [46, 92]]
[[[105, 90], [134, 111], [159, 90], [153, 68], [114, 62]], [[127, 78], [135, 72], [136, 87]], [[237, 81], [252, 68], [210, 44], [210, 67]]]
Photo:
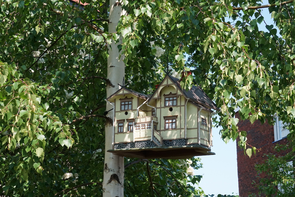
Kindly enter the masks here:
[[[110, 0], [109, 14], [109, 33], [116, 32], [116, 27], [120, 17], [124, 14], [119, 1]], [[106, 95], [109, 97], [114, 94], [120, 87], [118, 84], [123, 83], [125, 75], [125, 64], [123, 58], [119, 59], [119, 50], [117, 44], [109, 45], [108, 70], [107, 78], [112, 82], [114, 87], [107, 87]], [[106, 110], [112, 109], [113, 106], [107, 103]], [[115, 109], [113, 109], [115, 110]], [[112, 117], [113, 111], [108, 113], [108, 117]], [[114, 155], [107, 152], [112, 147], [113, 128], [107, 124], [105, 127], [105, 158], [104, 158], [104, 180], [103, 180], [103, 196], [104, 197], [123, 197], [124, 196], [124, 157]]]

